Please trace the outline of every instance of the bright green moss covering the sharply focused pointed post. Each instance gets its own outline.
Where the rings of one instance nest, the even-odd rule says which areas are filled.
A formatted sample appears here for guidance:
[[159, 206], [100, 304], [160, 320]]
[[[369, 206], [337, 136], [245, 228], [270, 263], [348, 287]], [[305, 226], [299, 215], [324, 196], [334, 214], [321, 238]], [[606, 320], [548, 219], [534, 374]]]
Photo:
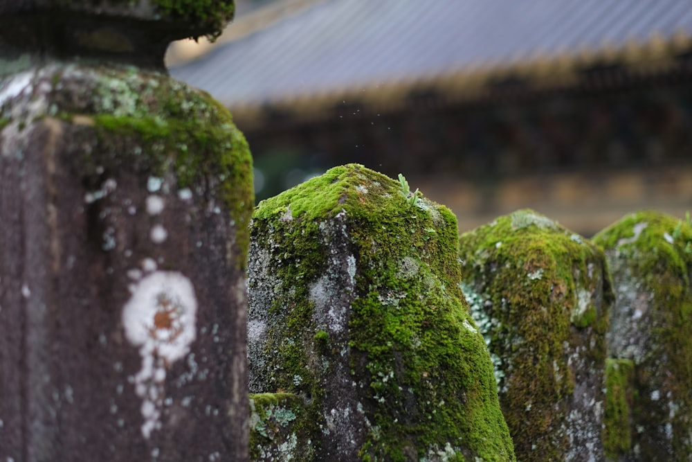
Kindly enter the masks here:
[[[491, 364], [482, 338], [471, 330], [473, 321], [456, 285], [455, 217], [426, 199], [407, 204], [398, 187], [363, 166], [333, 168], [260, 203], [253, 215], [253, 239], [286, 256], [278, 268], [284, 283], [314, 281], [325, 271], [325, 255], [315, 245], [322, 220], [340, 213], [347, 217], [349, 245], [358, 256], [349, 347], [360, 359], [354, 359], [352, 375], [366, 377], [363, 406], [373, 416], [361, 447], [363, 460], [403, 461], [411, 452], [426, 460], [444, 452], [446, 443], [457, 447], [448, 448], [447, 460], [464, 460], [464, 455], [514, 460]], [[273, 236], [272, 242], [266, 236]], [[401, 274], [400, 265], [407, 256], [418, 262], [409, 277]], [[300, 335], [309, 335], [304, 339], [309, 344], [319, 330], [313, 325], [306, 329], [305, 322], [313, 324], [306, 315], [312, 308], [306, 287], [284, 286], [284, 294], [290, 295], [277, 301], [276, 309], [293, 310], [286, 325], [301, 325], [307, 333]], [[290, 332], [282, 335], [291, 338]], [[277, 385], [306, 392], [305, 380], [296, 385], [291, 377], [314, 360], [311, 355], [286, 357], [286, 368], [276, 373]], [[314, 398], [325, 390], [314, 377], [309, 383], [318, 406]], [[465, 448], [464, 455], [459, 447]]]

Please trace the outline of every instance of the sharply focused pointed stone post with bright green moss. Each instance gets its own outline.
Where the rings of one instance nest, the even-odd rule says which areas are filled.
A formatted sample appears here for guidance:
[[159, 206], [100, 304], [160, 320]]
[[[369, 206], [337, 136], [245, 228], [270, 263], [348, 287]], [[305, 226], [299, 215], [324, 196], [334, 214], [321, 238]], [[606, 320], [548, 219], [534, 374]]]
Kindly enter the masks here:
[[514, 460], [458, 281], [453, 214], [363, 166], [262, 202], [248, 263], [250, 389], [299, 396], [307, 418], [281, 442], [260, 438], [266, 421], [251, 427], [255, 458], [309, 438], [302, 460]]

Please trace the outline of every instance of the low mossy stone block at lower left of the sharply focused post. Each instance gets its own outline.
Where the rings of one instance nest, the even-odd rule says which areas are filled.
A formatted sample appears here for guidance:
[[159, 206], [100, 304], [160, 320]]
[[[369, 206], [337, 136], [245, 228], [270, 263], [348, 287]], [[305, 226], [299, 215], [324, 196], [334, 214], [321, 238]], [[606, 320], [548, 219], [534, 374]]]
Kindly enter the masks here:
[[249, 398], [251, 461], [313, 460], [309, 435], [315, 423], [307, 418], [300, 396], [251, 393]]

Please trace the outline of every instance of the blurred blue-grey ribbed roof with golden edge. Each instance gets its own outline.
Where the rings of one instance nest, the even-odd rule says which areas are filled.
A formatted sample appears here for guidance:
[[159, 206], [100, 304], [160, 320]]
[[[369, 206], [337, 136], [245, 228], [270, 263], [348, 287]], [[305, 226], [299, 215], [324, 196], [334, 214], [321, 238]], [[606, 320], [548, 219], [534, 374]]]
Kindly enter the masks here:
[[[291, 6], [291, 8], [286, 7]], [[382, 104], [435, 87], [473, 94], [489, 80], [563, 85], [614, 62], [655, 71], [692, 50], [689, 0], [291, 0], [243, 26], [174, 78], [234, 111], [264, 105]], [[284, 8], [279, 10], [277, 8]], [[257, 109], [258, 110], [258, 109]]]

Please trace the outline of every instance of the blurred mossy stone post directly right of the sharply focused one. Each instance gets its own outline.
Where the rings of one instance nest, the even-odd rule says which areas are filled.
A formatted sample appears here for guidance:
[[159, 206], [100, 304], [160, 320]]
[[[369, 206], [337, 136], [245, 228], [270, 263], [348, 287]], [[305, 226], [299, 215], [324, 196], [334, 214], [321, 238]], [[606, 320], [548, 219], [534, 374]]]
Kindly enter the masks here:
[[603, 460], [605, 256], [534, 211], [460, 238], [462, 290], [489, 346], [520, 461]]

